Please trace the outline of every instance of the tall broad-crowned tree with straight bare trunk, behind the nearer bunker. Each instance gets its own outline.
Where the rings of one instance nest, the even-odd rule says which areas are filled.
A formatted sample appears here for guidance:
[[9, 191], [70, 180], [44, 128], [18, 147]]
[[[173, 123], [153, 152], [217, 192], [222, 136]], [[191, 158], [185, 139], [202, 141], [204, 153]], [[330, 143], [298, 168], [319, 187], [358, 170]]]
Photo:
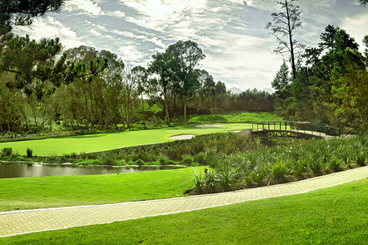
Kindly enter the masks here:
[[178, 41], [168, 47], [172, 54], [172, 68], [179, 81], [180, 94], [184, 98], [184, 123], [186, 123], [186, 103], [189, 95], [194, 94], [194, 90], [199, 86], [196, 79], [196, 68], [198, 63], [206, 55], [196, 42], [191, 40]]

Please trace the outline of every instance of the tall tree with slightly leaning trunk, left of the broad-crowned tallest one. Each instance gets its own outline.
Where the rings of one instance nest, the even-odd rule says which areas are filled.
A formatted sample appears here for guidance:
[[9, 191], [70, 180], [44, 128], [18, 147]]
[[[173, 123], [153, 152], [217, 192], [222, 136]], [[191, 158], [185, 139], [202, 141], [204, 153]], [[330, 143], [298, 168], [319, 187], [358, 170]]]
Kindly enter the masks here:
[[160, 93], [160, 96], [163, 96], [165, 119], [168, 126], [170, 126], [168, 89], [173, 82], [173, 71], [170, 64], [171, 61], [171, 51], [166, 49], [165, 52], [157, 52], [156, 54], [152, 55], [152, 61], [148, 64], [148, 72], [158, 75], [158, 79], [150, 80], [152, 82], [151, 93]]

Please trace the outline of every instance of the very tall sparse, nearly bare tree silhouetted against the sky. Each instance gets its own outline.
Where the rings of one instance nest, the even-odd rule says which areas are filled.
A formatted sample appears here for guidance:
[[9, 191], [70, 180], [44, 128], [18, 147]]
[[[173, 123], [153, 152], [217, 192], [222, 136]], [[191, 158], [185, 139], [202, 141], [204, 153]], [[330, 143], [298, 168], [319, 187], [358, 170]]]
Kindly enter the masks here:
[[279, 45], [274, 49], [274, 52], [279, 54], [290, 53], [292, 76], [295, 78], [298, 64], [295, 62], [295, 56], [302, 52], [304, 45], [293, 39], [295, 29], [302, 26], [300, 21], [301, 11], [298, 5], [293, 2], [297, 0], [278, 1], [281, 5], [282, 12], [272, 13], [272, 22], [266, 24], [266, 29], [269, 29], [273, 36], [276, 37]]

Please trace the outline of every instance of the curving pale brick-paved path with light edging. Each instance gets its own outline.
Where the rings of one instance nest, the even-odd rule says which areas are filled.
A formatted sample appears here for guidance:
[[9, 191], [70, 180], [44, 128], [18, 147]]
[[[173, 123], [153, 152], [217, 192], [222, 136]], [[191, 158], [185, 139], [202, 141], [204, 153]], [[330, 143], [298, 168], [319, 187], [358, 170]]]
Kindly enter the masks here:
[[166, 215], [306, 193], [368, 177], [368, 166], [288, 184], [152, 201], [0, 212], [0, 237]]

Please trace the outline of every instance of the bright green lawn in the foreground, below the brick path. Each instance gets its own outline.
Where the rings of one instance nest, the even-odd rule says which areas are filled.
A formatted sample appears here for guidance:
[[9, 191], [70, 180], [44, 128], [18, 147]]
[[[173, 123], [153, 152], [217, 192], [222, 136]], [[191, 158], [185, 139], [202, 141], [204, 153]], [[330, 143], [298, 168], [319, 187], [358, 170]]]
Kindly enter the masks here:
[[366, 244], [368, 179], [307, 194], [32, 233], [0, 244]]

